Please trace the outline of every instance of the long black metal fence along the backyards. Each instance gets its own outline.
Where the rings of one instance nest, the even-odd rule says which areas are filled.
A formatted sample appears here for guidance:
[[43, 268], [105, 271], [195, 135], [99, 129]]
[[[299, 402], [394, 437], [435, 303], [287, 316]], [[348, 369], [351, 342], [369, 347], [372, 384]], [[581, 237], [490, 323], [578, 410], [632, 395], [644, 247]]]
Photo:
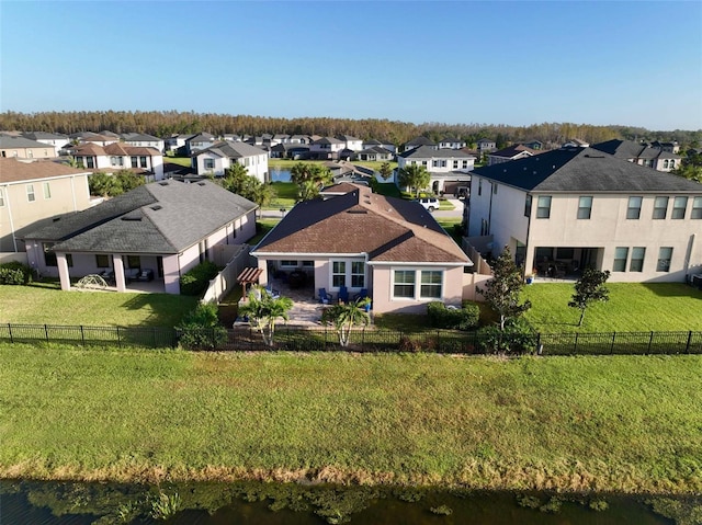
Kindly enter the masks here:
[[[213, 334], [214, 336], [214, 334]], [[52, 324], [0, 324], [0, 341], [10, 343], [67, 343], [117, 347], [176, 347], [179, 333], [173, 328], [63, 327]], [[534, 340], [541, 355], [616, 354], [702, 354], [702, 332], [605, 332], [537, 333]], [[250, 327], [227, 330], [216, 345], [220, 351], [353, 351], [435, 352], [452, 354], [492, 353], [488, 338], [480, 332], [427, 330], [401, 332], [359, 328], [351, 331], [349, 344], [339, 344], [337, 332], [324, 327], [281, 326], [273, 346]]]

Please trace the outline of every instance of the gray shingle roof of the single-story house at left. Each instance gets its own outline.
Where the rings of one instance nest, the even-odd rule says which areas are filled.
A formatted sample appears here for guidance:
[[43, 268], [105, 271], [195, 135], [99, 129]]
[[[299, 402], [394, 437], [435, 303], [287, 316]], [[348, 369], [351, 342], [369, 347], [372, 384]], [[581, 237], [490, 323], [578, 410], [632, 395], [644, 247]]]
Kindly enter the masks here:
[[58, 242], [56, 250], [180, 253], [257, 207], [210, 181], [161, 181], [26, 235]]

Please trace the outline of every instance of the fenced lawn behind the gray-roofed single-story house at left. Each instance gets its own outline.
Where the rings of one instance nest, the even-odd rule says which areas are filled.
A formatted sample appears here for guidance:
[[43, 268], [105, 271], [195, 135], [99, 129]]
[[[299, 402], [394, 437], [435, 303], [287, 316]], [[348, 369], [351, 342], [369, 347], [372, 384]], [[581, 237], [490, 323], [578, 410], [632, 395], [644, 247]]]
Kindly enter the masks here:
[[0, 286], [0, 322], [97, 327], [173, 327], [195, 297], [116, 292], [61, 292], [56, 283]]

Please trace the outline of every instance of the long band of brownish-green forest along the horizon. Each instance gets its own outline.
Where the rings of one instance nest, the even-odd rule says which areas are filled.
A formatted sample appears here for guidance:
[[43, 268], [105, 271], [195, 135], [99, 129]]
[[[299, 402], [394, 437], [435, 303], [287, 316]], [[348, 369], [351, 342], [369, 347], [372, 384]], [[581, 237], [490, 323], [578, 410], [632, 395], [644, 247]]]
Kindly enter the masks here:
[[227, 115], [178, 111], [76, 111], [0, 113], [0, 129], [20, 132], [48, 132], [70, 135], [78, 132], [111, 130], [114, 133], [146, 133], [157, 137], [172, 134], [208, 132], [224, 134], [263, 135], [351, 135], [361, 139], [389, 140], [399, 146], [423, 135], [431, 140], [452, 136], [465, 140], [468, 146], [480, 138], [496, 140], [498, 147], [509, 144], [541, 140], [545, 145], [561, 145], [571, 138], [600, 142], [613, 138], [627, 140], [677, 140], [686, 147], [699, 148], [702, 129], [654, 132], [632, 126], [593, 126], [589, 124], [543, 123], [530, 126], [505, 124], [412, 124], [381, 118], [279, 118], [252, 115]]

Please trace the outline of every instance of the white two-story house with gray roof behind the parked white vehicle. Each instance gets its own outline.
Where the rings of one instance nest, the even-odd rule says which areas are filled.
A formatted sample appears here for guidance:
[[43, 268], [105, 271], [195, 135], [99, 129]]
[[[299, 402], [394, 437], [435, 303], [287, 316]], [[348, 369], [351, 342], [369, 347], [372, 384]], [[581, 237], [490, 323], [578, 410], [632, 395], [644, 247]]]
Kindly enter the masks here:
[[431, 191], [438, 194], [445, 191], [446, 182], [469, 182], [475, 157], [460, 149], [434, 149], [431, 146], [420, 146], [397, 156], [398, 171], [412, 164], [427, 169]]

